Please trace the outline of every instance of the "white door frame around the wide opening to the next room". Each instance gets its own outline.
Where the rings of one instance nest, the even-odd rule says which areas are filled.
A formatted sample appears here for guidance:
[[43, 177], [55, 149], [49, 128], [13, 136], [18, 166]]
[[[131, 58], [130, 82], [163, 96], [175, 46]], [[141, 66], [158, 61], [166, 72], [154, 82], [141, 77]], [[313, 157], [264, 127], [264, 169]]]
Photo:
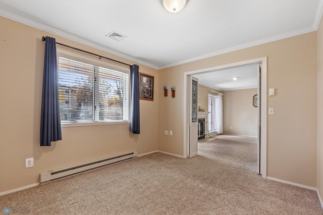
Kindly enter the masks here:
[[262, 64], [261, 68], [261, 133], [260, 133], [260, 174], [262, 178], [267, 177], [267, 57], [251, 59], [216, 67], [194, 70], [184, 73], [184, 157], [188, 157], [189, 148], [189, 106], [188, 106], [188, 78], [192, 74], [216, 71], [232, 67], [239, 67], [251, 64]]

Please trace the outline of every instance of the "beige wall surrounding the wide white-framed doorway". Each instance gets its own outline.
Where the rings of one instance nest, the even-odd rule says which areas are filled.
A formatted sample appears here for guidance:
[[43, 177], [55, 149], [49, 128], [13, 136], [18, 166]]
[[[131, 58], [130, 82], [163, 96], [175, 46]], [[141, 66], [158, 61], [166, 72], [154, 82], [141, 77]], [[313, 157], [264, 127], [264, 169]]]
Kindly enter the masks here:
[[159, 134], [173, 126], [177, 133], [159, 135], [158, 148], [184, 154], [184, 72], [265, 56], [267, 87], [276, 88], [267, 98], [275, 108], [267, 116], [267, 176], [316, 187], [316, 32], [161, 70], [159, 85], [172, 82], [177, 94], [159, 100]]

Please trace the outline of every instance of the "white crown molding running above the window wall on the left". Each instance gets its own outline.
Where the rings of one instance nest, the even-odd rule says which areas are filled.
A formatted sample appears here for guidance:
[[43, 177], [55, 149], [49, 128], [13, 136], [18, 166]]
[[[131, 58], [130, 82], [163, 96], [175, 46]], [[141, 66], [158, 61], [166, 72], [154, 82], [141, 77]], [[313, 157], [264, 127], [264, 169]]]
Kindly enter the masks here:
[[82, 37], [67, 33], [65, 31], [61, 31], [61, 30], [59, 30], [57, 28], [53, 28], [53, 27], [50, 27], [50, 26], [46, 26], [46, 25], [34, 22], [32, 20], [29, 20], [29, 19], [25, 19], [23, 17], [17, 16], [17, 15], [12, 14], [12, 13], [9, 13], [9, 12], [4, 11], [2, 9], [0, 9], [0, 16], [8, 18], [8, 19], [11, 19], [11, 20], [14, 20], [16, 22], [20, 22], [20, 23], [28, 25], [28, 26], [31, 26], [33, 28], [37, 28], [39, 30], [46, 31], [48, 33], [52, 33], [52, 34], [64, 37], [64, 38], [72, 40], [74, 42], [78, 42], [78, 43], [90, 46], [92, 48], [96, 48], [98, 50], [105, 51], [107, 53], [111, 53], [112, 55], [127, 59], [129, 61], [132, 61], [132, 62], [135, 62], [135, 63], [138, 63], [138, 64], [142, 64], [142, 65], [145, 65], [147, 67], [150, 67], [150, 68], [153, 68], [153, 69], [156, 69], [156, 70], [158, 69], [158, 67], [155, 66], [155, 65], [152, 65], [152, 64], [149, 64], [147, 62], [141, 61], [139, 59], [136, 59], [134, 57], [126, 55], [126, 54], [124, 54], [122, 52], [116, 51], [116, 50], [114, 50], [112, 48], [108, 48], [108, 47], [99, 45], [99, 44], [97, 44], [95, 42], [92, 42], [92, 41], [84, 39]]

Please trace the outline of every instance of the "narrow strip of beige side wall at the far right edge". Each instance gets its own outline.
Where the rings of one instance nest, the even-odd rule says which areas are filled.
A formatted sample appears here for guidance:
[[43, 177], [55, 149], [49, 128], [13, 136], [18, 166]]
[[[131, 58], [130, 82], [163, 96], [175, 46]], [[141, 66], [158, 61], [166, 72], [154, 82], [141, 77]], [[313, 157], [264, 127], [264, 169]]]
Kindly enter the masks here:
[[[323, 198], [323, 18], [317, 31], [317, 190]], [[322, 199], [323, 200], [323, 199]]]

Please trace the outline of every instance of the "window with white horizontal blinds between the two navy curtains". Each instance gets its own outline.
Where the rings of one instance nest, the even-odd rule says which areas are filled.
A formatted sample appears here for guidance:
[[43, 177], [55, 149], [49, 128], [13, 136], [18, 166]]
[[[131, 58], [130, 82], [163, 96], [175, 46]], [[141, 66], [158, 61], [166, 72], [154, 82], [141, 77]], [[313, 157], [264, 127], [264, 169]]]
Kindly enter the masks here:
[[61, 122], [128, 122], [129, 72], [58, 58]]

